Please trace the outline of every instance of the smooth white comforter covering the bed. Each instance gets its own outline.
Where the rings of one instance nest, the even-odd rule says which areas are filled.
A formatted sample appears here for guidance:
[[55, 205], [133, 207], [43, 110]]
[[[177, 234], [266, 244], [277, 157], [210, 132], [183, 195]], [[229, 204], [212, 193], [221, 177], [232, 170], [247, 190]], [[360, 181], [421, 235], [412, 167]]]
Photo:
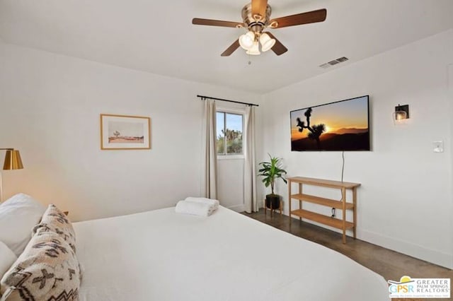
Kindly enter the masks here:
[[377, 273], [229, 209], [74, 223], [81, 301], [389, 300]]

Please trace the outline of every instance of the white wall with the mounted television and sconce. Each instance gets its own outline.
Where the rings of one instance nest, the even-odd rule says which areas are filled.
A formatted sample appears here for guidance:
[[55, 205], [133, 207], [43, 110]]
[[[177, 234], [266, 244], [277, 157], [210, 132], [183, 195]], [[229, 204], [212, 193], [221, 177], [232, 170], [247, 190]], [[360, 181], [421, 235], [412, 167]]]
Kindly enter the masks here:
[[[450, 268], [452, 41], [449, 30], [264, 95], [260, 154], [284, 158], [289, 175], [339, 180], [340, 152], [290, 151], [289, 111], [369, 94], [372, 151], [345, 153], [345, 181], [362, 183], [357, 235]], [[391, 114], [398, 103], [410, 105], [411, 119], [394, 126]], [[440, 140], [446, 151], [433, 153], [432, 141]], [[287, 213], [287, 186], [280, 183], [278, 192]]]

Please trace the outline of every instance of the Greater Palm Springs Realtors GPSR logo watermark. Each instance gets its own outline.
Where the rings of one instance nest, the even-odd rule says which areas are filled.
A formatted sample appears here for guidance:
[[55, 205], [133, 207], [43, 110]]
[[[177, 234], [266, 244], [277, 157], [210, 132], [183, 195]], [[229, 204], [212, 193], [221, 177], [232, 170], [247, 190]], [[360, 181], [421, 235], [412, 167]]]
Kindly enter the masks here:
[[449, 298], [449, 278], [401, 277], [400, 281], [387, 281], [391, 298]]

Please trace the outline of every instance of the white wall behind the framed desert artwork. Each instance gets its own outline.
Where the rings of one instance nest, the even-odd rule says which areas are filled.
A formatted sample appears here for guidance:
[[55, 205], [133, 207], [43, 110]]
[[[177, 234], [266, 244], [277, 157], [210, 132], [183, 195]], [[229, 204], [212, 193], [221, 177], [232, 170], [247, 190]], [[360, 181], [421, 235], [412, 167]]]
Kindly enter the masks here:
[[[197, 94], [258, 98], [0, 44], [0, 147], [18, 148], [25, 165], [3, 172], [5, 196], [23, 191], [86, 220], [200, 195]], [[151, 151], [101, 151], [101, 113], [151, 117]]]

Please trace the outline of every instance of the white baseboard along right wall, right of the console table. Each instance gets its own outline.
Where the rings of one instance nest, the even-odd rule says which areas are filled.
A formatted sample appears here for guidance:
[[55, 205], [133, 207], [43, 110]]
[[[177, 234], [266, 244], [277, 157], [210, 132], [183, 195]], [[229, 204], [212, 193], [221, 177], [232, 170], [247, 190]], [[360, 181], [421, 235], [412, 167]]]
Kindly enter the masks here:
[[[418, 244], [413, 244], [411, 242], [406, 242], [403, 240], [396, 240], [393, 237], [380, 235], [378, 233], [370, 232], [367, 230], [360, 231], [357, 229], [357, 238], [359, 238], [360, 240], [365, 240], [366, 242], [370, 242], [372, 244], [377, 244], [387, 249], [394, 250], [396, 252], [429, 261], [432, 264], [445, 266], [446, 268], [450, 269], [453, 268], [453, 254], [447, 254], [434, 249], [428, 249], [427, 247], [423, 247]], [[401, 275], [403, 274], [404, 271], [401, 271]]]

